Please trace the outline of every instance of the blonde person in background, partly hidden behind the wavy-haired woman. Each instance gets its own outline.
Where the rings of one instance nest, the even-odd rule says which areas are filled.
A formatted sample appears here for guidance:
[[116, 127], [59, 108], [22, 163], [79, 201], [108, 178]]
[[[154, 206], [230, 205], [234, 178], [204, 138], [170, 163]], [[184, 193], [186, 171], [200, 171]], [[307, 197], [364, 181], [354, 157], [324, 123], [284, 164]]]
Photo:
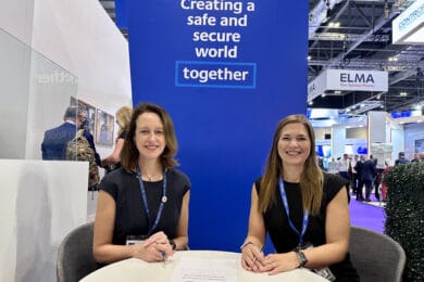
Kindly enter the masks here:
[[101, 167], [104, 167], [107, 169], [107, 172], [110, 172], [121, 167], [121, 151], [124, 146], [125, 137], [128, 131], [132, 114], [133, 110], [129, 106], [122, 106], [120, 110], [116, 111], [116, 124], [120, 128], [117, 130], [115, 148], [112, 154], [101, 161]]

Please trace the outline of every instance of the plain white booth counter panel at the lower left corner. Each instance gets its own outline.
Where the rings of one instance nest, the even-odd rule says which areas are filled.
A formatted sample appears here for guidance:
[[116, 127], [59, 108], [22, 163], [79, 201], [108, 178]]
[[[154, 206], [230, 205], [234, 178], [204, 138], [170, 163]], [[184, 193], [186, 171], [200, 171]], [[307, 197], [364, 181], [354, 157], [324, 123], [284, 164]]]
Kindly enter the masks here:
[[63, 238], [86, 222], [88, 163], [0, 159], [0, 281], [55, 281]]

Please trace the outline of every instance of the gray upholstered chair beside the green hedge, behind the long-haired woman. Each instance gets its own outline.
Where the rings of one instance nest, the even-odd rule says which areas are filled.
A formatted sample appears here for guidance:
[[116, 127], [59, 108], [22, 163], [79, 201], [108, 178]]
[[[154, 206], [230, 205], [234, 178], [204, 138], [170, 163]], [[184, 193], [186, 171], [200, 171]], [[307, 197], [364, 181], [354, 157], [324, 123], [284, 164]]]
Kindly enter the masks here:
[[350, 228], [350, 258], [361, 282], [401, 282], [407, 256], [388, 235], [360, 227]]

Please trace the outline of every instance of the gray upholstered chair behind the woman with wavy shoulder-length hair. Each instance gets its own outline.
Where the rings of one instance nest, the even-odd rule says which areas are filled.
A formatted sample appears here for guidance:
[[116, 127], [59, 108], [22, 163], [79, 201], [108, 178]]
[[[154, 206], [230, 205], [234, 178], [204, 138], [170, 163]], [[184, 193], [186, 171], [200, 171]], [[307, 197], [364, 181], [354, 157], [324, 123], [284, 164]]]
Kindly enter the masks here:
[[75, 282], [97, 269], [92, 257], [93, 222], [85, 223], [71, 231], [59, 246], [58, 282]]

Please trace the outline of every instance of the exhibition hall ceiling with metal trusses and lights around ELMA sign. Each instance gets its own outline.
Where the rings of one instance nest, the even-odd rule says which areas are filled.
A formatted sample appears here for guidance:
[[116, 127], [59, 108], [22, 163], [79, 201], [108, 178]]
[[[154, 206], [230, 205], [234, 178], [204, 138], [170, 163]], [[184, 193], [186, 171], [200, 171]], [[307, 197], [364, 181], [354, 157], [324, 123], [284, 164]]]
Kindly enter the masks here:
[[[115, 2], [100, 2], [115, 20]], [[309, 101], [308, 107], [337, 108], [354, 116], [367, 111], [414, 111], [423, 104], [424, 43], [391, 43], [391, 22], [413, 2], [309, 0], [309, 84], [327, 69], [385, 70], [388, 91], [327, 90]]]

